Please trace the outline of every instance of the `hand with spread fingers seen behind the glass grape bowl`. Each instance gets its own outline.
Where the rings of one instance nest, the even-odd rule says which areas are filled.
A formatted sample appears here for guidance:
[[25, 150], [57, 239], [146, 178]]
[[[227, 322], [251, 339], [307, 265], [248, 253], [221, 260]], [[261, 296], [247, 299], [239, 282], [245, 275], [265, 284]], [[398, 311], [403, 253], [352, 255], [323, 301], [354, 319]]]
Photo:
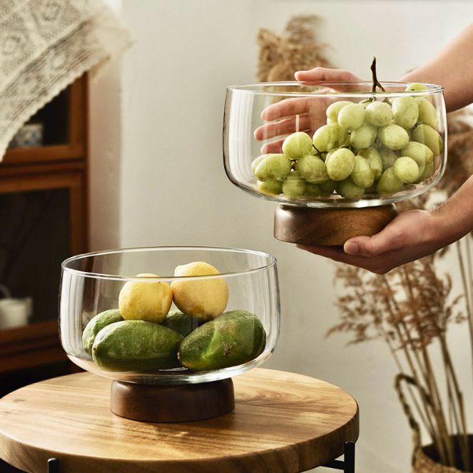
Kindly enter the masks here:
[[[360, 79], [345, 69], [330, 69], [324, 67], [316, 67], [310, 71], [297, 71], [295, 73], [297, 81], [310, 84], [318, 81], [360, 81]], [[343, 86], [331, 85], [330, 88], [323, 89], [324, 91], [342, 91]], [[273, 103], [263, 110], [261, 118], [265, 123], [255, 130], [255, 138], [258, 141], [265, 141], [271, 138], [275, 139], [270, 143], [265, 143], [262, 148], [262, 153], [281, 153], [284, 138], [295, 131], [305, 131], [311, 137], [315, 130], [322, 125], [325, 125], [327, 117], [325, 111], [330, 103], [336, 101], [334, 97], [327, 98], [311, 98], [311, 97], [297, 97], [286, 98], [278, 103]]]

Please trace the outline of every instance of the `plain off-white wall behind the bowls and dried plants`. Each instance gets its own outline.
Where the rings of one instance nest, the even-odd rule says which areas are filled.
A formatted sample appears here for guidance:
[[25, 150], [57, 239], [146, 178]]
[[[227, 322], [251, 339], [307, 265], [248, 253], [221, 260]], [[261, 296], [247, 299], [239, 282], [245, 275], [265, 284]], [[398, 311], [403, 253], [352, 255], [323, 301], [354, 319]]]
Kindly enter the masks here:
[[[118, 235], [121, 246], [225, 245], [276, 255], [283, 321], [280, 345], [267, 366], [320, 377], [356, 397], [361, 412], [357, 471], [409, 471], [410, 432], [392, 389], [396, 370], [386, 347], [380, 342], [345, 347], [343, 337], [325, 339], [337, 322], [332, 264], [274, 240], [275, 205], [246, 195], [227, 180], [223, 101], [229, 84], [255, 80], [259, 27], [280, 31], [291, 15], [317, 14], [323, 19], [320, 40], [330, 44], [327, 54], [334, 63], [368, 77], [376, 54], [380, 78], [392, 80], [432, 58], [466, 26], [473, 2], [121, 3], [137, 42], [123, 60], [121, 136], [113, 136], [121, 141], [121, 160], [113, 161], [108, 182], [93, 180], [93, 245], [115, 246]], [[97, 101], [106, 100], [104, 92], [96, 93]], [[98, 128], [92, 136], [106, 133], [105, 117], [93, 118]], [[100, 155], [97, 145], [94, 160]], [[103, 158], [108, 159], [107, 153]], [[104, 205], [118, 211], [112, 227], [96, 210]], [[462, 330], [454, 333], [462, 336]], [[456, 345], [467, 375], [467, 347]]]

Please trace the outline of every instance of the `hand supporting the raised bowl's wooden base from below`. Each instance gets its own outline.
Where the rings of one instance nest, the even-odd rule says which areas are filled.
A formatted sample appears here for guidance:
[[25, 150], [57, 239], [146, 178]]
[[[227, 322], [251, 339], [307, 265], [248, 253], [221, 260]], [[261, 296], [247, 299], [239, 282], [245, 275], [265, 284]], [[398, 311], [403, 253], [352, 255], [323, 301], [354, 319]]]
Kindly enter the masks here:
[[372, 237], [350, 238], [343, 248], [297, 245], [315, 255], [385, 274], [397, 266], [429, 255], [456, 238], [445, 238], [442, 218], [427, 210], [401, 213]]

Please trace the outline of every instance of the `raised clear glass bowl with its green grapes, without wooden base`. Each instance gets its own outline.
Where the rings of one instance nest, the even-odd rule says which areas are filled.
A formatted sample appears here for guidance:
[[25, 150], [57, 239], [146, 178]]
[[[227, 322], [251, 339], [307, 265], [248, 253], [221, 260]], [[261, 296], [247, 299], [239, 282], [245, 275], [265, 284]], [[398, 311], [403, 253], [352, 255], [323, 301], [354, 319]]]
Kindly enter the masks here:
[[228, 178], [260, 198], [309, 208], [387, 205], [426, 192], [447, 162], [443, 88], [377, 84], [228, 87]]

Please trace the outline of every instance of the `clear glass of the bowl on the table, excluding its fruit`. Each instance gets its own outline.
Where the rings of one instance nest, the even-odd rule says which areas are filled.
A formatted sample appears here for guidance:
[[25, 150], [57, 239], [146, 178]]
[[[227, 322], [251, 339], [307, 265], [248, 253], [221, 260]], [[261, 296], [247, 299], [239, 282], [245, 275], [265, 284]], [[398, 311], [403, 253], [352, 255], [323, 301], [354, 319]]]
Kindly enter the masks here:
[[[174, 276], [179, 265], [205, 262], [220, 271], [218, 275]], [[157, 247], [108, 250], [78, 255], [63, 262], [60, 301], [60, 335], [68, 357], [85, 370], [113, 380], [149, 384], [182, 384], [208, 382], [231, 377], [260, 365], [275, 350], [279, 335], [279, 287], [276, 260], [272, 255], [253, 250], [208, 247]], [[136, 277], [152, 273], [156, 277]], [[118, 309], [119, 295], [129, 284], [154, 283], [173, 290], [177, 283], [190, 283], [208, 297], [205, 285], [224, 279], [228, 285], [225, 312], [244, 310], [256, 315], [264, 327], [265, 347], [257, 357], [238, 365], [212, 370], [188, 370], [176, 365], [151, 370], [109, 369], [98, 365], [83, 345], [88, 322], [106, 310]], [[173, 286], [174, 284], [174, 286]], [[174, 294], [173, 294], [174, 295]], [[198, 297], [201, 297], [198, 294]], [[174, 299], [175, 300], [175, 299]], [[171, 310], [176, 310], [175, 302]], [[218, 319], [218, 317], [217, 317]], [[193, 318], [191, 331], [204, 321]], [[161, 324], [162, 322], [158, 322]], [[253, 350], [250, 337], [240, 337], [245, 350]], [[243, 349], [242, 349], [243, 350]]]

